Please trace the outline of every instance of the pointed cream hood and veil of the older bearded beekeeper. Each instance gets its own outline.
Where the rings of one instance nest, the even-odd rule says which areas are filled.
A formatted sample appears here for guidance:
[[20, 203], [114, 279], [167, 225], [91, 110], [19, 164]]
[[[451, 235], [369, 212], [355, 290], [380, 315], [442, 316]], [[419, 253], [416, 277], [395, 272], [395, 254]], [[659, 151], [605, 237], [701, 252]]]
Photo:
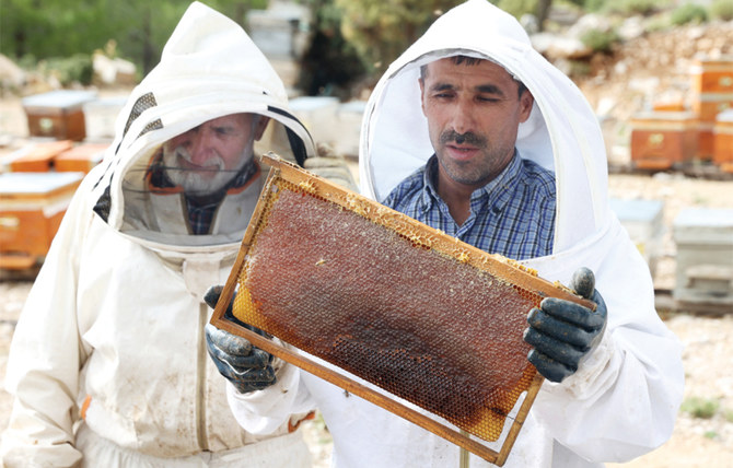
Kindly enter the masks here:
[[235, 22], [194, 2], [166, 43], [160, 63], [132, 91], [117, 118], [115, 140], [102, 163], [105, 171], [94, 188], [98, 195], [94, 211], [123, 234], [161, 246], [238, 243], [251, 214], [242, 207], [253, 204], [245, 203], [242, 195], [218, 208], [211, 235], [188, 234], [181, 206], [170, 202], [174, 197], [161, 203], [167, 202], [170, 213], [158, 210], [155, 225], [142, 219], [153, 199], [148, 197], [146, 174], [163, 143], [208, 120], [240, 113], [269, 118], [255, 155], [272, 150], [303, 164], [315, 153], [307, 130], [288, 109], [282, 81], [263, 52]]

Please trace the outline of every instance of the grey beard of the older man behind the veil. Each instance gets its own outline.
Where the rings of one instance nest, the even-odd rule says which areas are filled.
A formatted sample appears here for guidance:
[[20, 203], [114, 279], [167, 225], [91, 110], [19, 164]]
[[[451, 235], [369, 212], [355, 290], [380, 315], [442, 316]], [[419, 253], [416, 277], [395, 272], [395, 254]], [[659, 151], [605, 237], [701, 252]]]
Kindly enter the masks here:
[[183, 147], [163, 148], [163, 165], [165, 175], [171, 182], [183, 187], [187, 195], [206, 196], [214, 194], [226, 186], [244, 166], [244, 154], [242, 164], [234, 171], [224, 169], [224, 160], [214, 155], [207, 160], [205, 167], [190, 169], [181, 167], [178, 157], [190, 163], [190, 153]]

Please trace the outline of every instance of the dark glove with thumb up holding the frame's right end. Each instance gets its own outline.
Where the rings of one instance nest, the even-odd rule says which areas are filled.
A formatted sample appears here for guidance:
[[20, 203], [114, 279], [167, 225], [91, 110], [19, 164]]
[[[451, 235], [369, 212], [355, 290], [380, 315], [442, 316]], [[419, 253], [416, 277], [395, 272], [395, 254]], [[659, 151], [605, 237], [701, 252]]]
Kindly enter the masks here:
[[562, 382], [601, 341], [606, 328], [607, 311], [595, 290], [593, 271], [581, 268], [570, 280], [570, 289], [597, 304], [594, 311], [557, 297], [546, 297], [540, 308], [530, 311], [530, 327], [524, 341], [534, 349], [527, 359], [542, 375], [551, 382]]

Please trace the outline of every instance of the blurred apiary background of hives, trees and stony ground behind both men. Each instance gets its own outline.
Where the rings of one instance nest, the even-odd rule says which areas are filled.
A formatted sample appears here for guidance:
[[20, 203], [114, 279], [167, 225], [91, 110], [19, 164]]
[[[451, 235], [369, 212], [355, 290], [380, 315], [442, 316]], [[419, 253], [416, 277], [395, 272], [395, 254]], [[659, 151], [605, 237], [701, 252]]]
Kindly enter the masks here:
[[[361, 118], [447, 0], [205, 0], [242, 24], [321, 151], [358, 178]], [[0, 0], [0, 377], [32, 281], [188, 0]], [[635, 467], [733, 461], [733, 0], [498, 0], [586, 96], [609, 194], [685, 346], [672, 440]], [[50, 207], [50, 208], [49, 208]], [[0, 390], [0, 428], [10, 410]], [[623, 409], [621, 409], [623, 410]], [[306, 429], [319, 467], [330, 438]]]

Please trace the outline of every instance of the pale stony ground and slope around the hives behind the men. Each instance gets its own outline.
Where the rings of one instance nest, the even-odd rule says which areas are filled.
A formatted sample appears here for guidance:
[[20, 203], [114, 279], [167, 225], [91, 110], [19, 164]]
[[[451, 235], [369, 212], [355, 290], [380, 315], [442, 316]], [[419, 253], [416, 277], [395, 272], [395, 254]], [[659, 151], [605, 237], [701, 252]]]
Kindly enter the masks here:
[[[612, 163], [627, 164], [629, 118], [656, 102], [688, 104], [690, 65], [699, 54], [733, 54], [733, 22], [706, 27], [686, 26], [674, 32], [644, 35], [616, 49], [614, 56], [598, 56], [591, 71], [577, 78], [581, 90], [604, 122]], [[18, 144], [27, 131], [16, 96], [0, 100], [0, 156]], [[733, 209], [733, 182], [711, 182], [679, 174], [654, 176], [613, 174], [612, 196], [624, 199], [664, 201], [665, 234], [655, 268], [659, 290], [674, 288], [676, 246], [672, 222], [689, 207]], [[14, 325], [31, 288], [30, 280], [0, 277], [0, 378], [4, 376]], [[661, 448], [628, 465], [630, 467], [733, 466], [733, 311], [720, 316], [670, 312], [660, 307], [667, 326], [684, 344], [685, 398], [690, 407], [705, 403], [717, 409], [709, 418], [683, 410], [672, 438]], [[0, 390], [0, 428], [4, 426], [11, 400]], [[687, 408], [687, 405], [686, 405]], [[694, 408], [693, 408], [694, 409]], [[623, 410], [623, 409], [619, 409]], [[328, 466], [330, 437], [322, 421], [305, 426], [316, 467]], [[610, 465], [615, 466], [615, 465]]]

